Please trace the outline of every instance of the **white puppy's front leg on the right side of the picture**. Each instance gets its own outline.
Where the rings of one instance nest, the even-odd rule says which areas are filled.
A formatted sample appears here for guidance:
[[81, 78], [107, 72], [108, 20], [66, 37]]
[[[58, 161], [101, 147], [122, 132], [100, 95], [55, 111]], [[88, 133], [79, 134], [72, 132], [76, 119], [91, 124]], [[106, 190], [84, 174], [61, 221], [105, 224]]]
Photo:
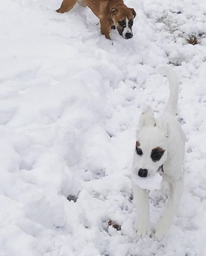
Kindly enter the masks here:
[[183, 180], [179, 179], [169, 184], [168, 202], [162, 214], [162, 217], [158, 220], [154, 228], [154, 237], [157, 240], [161, 240], [164, 233], [169, 229], [172, 224], [172, 220], [176, 215], [177, 208], [183, 190]]

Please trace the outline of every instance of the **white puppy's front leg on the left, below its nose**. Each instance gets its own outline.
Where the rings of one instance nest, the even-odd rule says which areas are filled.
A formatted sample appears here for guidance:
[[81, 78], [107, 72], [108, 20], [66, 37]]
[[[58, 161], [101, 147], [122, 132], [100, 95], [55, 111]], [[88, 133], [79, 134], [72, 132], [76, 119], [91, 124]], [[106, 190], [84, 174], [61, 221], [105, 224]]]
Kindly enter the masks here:
[[137, 236], [144, 238], [150, 230], [150, 202], [148, 190], [132, 184], [136, 206], [135, 229]]

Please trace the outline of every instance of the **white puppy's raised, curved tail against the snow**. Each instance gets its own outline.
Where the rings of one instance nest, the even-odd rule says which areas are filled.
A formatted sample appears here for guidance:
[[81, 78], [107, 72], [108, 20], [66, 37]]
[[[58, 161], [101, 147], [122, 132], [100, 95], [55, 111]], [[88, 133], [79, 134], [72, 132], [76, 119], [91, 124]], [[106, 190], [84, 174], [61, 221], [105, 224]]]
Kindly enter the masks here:
[[164, 66], [160, 68], [160, 72], [167, 76], [169, 80], [169, 101], [165, 108], [166, 111], [170, 112], [171, 114], [175, 115], [177, 112], [177, 102], [179, 96], [179, 82], [176, 73], [174, 70], [168, 66]]

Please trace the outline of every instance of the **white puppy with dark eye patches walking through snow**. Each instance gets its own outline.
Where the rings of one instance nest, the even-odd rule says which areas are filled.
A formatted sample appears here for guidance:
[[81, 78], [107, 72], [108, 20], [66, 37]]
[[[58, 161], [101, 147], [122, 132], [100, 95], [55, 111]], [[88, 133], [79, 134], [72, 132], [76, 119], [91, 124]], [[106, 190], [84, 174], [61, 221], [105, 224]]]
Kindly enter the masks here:
[[[132, 166], [132, 176], [147, 177], [161, 170], [163, 180], [169, 183], [168, 202], [154, 227], [154, 237], [161, 240], [176, 214], [183, 189], [183, 159], [185, 134], [177, 121], [176, 109], [179, 83], [174, 71], [164, 68], [168, 77], [170, 96], [162, 115], [155, 119], [147, 107], [140, 116], [139, 129]], [[137, 209], [135, 229], [138, 237], [145, 237], [150, 230], [150, 204], [148, 190], [132, 182], [134, 202]]]

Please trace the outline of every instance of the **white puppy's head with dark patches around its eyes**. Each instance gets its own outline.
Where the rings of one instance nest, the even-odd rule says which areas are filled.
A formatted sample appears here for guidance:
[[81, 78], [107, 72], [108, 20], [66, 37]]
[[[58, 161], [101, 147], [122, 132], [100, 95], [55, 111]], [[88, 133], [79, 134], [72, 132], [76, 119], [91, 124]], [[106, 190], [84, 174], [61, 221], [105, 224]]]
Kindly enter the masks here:
[[167, 158], [169, 130], [157, 125], [150, 107], [142, 112], [136, 135], [133, 172], [140, 177], [154, 175]]

